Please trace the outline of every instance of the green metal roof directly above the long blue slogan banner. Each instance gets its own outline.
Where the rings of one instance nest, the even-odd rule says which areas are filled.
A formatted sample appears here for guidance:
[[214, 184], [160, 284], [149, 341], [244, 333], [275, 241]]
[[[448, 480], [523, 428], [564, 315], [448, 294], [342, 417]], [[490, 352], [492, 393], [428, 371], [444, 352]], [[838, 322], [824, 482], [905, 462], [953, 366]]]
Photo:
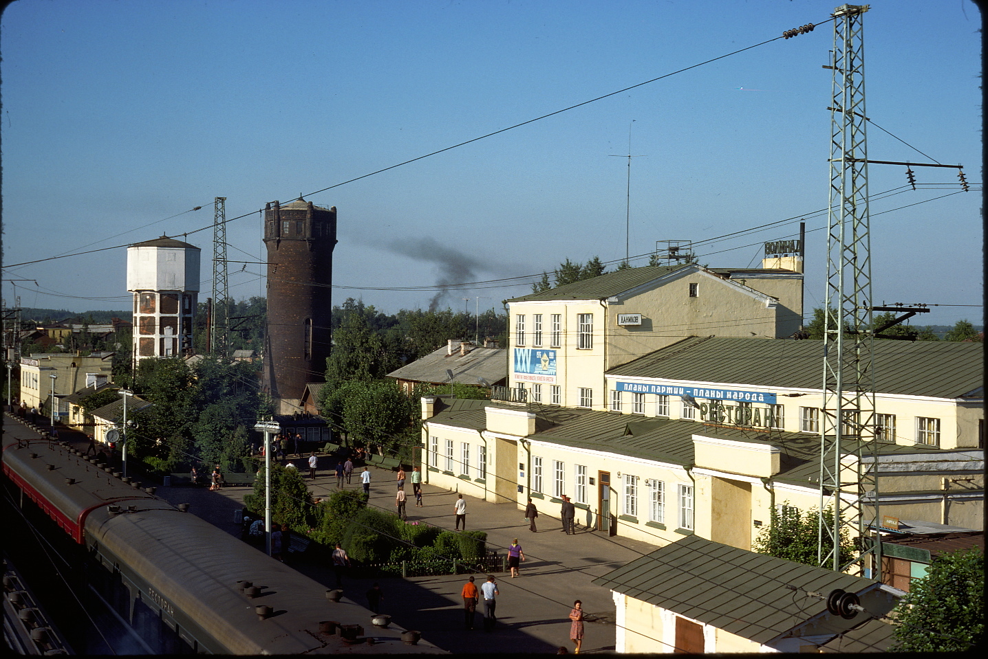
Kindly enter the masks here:
[[[982, 396], [984, 349], [961, 341], [875, 340], [875, 391], [955, 399]], [[691, 337], [621, 364], [609, 375], [765, 388], [823, 386], [823, 341]]]

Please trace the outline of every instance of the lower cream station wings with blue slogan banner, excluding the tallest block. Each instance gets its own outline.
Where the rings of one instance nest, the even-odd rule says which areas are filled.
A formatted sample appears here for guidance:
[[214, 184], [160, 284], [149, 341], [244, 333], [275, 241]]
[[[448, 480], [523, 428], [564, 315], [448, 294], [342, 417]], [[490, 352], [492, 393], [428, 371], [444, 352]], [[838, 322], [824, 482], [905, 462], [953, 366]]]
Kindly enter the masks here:
[[[606, 411], [425, 399], [424, 471], [488, 501], [532, 496], [542, 515], [566, 494], [579, 524], [658, 546], [697, 534], [750, 549], [774, 507], [820, 505], [821, 349], [687, 339], [603, 374]], [[980, 346], [880, 341], [875, 355], [881, 514], [983, 528]]]

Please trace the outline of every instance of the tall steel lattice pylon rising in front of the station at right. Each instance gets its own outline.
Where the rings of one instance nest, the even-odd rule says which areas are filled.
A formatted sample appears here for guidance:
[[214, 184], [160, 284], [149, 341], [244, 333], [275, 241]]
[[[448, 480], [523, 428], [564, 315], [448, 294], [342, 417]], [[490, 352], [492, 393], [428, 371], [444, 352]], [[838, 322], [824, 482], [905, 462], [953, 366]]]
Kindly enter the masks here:
[[[867, 9], [843, 5], [834, 11], [819, 560], [845, 569], [841, 537], [853, 529], [861, 553], [852, 562], [866, 565], [874, 554], [872, 577], [880, 578], [880, 545], [864, 540], [878, 522], [862, 32]], [[832, 524], [822, 514], [827, 506], [835, 511]]]

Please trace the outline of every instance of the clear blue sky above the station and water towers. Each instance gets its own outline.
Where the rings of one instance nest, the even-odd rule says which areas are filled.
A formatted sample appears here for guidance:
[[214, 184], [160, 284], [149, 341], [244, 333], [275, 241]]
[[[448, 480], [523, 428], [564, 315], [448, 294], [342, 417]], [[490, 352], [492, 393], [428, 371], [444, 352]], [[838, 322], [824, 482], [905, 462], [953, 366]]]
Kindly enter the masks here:
[[[225, 196], [227, 257], [262, 260], [258, 209], [299, 193], [337, 206], [337, 304], [472, 313], [531, 290], [566, 257], [707, 241], [714, 267], [807, 230], [806, 313], [825, 284], [833, 0], [18, 0], [2, 17], [3, 296], [128, 309], [124, 248], [167, 234], [203, 249]], [[968, 0], [874, 0], [864, 15], [875, 303], [982, 303], [981, 16]], [[333, 189], [376, 170], [716, 62]], [[633, 123], [632, 123], [633, 122]], [[926, 155], [923, 155], [926, 154]], [[901, 206], [911, 205], [897, 209]], [[202, 210], [186, 212], [195, 206]], [[886, 212], [889, 211], [889, 212]], [[184, 214], [180, 214], [184, 213]], [[177, 217], [172, 217], [176, 216]], [[171, 219], [167, 219], [171, 218]], [[632, 261], [645, 264], [647, 258]], [[243, 268], [243, 270], [241, 270]], [[264, 295], [231, 263], [230, 293]], [[34, 281], [10, 281], [31, 279]], [[383, 289], [383, 290], [380, 290]], [[463, 298], [469, 298], [464, 302]], [[918, 324], [982, 309], [935, 307]]]

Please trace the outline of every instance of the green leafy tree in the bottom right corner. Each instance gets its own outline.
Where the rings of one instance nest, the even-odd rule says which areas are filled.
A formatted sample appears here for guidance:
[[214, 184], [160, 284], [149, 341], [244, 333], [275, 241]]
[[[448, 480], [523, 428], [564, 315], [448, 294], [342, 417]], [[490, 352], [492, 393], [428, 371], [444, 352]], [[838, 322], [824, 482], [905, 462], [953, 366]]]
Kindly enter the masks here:
[[981, 646], [985, 628], [985, 556], [981, 549], [934, 558], [896, 606], [893, 651], [965, 652]]

